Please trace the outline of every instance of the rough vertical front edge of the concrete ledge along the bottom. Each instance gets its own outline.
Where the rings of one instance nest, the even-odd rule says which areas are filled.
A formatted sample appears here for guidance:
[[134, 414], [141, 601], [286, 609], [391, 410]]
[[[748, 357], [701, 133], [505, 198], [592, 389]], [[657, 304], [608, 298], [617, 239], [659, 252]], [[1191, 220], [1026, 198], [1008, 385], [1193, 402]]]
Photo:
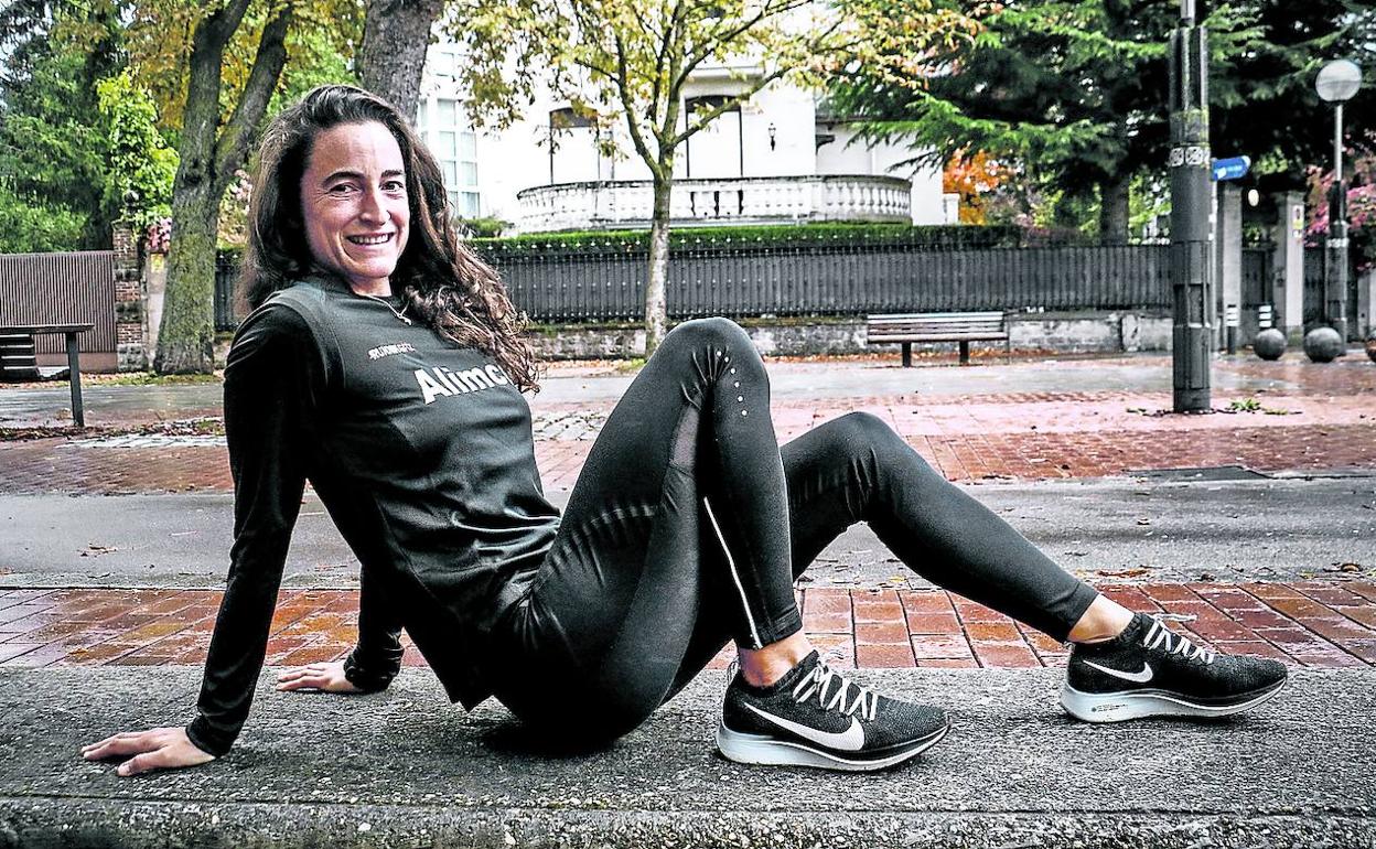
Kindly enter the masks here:
[[1376, 846], [1369, 817], [1304, 815], [717, 813], [428, 810], [406, 806], [204, 805], [136, 810], [80, 799], [0, 799], [0, 848], [245, 849], [1313, 849]]

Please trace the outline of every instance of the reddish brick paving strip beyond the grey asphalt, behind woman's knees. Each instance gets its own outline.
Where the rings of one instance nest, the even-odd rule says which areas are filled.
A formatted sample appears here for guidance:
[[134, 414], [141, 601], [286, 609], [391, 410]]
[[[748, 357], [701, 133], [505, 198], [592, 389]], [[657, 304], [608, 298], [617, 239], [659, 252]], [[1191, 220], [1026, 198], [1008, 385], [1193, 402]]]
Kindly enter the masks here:
[[[1233, 399], [1241, 400], [1241, 399]], [[1215, 399], [1226, 409], [1229, 399]], [[535, 457], [546, 488], [570, 488], [611, 405], [546, 407]], [[870, 398], [773, 406], [780, 440], [850, 410], [889, 422], [951, 480], [1104, 477], [1243, 465], [1260, 472], [1376, 468], [1376, 406], [1348, 396], [1267, 396], [1255, 413], [1165, 416], [1165, 395], [1018, 394]], [[1270, 414], [1267, 414], [1270, 411]], [[228, 491], [223, 438], [89, 436], [0, 442], [0, 491]]]

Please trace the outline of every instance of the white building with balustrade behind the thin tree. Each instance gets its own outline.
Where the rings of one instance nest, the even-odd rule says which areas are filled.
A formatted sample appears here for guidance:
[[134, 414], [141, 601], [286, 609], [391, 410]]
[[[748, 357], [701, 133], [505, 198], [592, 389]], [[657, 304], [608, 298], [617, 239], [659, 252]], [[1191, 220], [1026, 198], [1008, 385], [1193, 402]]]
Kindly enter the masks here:
[[[649, 169], [619, 117], [599, 128], [567, 102], [537, 102], [512, 127], [475, 129], [455, 80], [455, 45], [431, 47], [417, 127], [464, 217], [512, 222], [520, 233], [647, 227]], [[685, 110], [729, 96], [749, 67], [700, 70]], [[692, 136], [676, 162], [673, 223], [948, 222], [941, 172], [897, 164], [897, 144], [852, 143], [854, 132], [819, 113], [815, 92], [772, 84]], [[618, 153], [607, 155], [610, 133]]]

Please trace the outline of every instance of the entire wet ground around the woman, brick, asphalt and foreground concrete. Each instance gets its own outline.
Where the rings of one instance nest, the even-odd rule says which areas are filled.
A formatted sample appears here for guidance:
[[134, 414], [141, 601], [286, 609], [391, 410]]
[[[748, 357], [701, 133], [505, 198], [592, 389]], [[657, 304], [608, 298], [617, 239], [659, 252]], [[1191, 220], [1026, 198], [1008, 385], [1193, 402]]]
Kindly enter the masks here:
[[[266, 670], [228, 757], [118, 780], [77, 746], [180, 724], [200, 685], [233, 506], [220, 387], [94, 385], [94, 427], [47, 436], [21, 429], [67, 424], [66, 388], [3, 388], [0, 846], [1376, 848], [1376, 366], [1222, 359], [1207, 416], [1164, 413], [1160, 355], [771, 376], [782, 439], [879, 416], [1069, 571], [1200, 643], [1285, 662], [1291, 685], [1236, 721], [1069, 722], [1065, 645], [934, 588], [857, 526], [798, 599], [835, 665], [952, 713], [904, 769], [722, 761], [720, 671], [605, 751], [550, 754], [494, 702], [460, 716], [409, 647], [372, 696], [277, 694]], [[560, 365], [533, 399], [556, 504], [630, 380]], [[308, 495], [270, 666], [350, 651], [356, 574]]]

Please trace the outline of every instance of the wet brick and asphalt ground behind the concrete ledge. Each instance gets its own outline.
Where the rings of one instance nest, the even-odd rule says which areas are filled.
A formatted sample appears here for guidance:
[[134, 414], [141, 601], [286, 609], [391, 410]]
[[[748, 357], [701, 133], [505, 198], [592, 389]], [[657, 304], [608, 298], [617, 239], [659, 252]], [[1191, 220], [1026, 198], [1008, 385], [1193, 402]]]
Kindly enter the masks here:
[[[772, 411], [780, 440], [853, 410], [881, 417], [1069, 571], [1145, 610], [1210, 611], [1197, 632], [1205, 640], [1296, 663], [1370, 663], [1376, 608], [1361, 582], [1376, 571], [1376, 366], [1232, 358], [1214, 374], [1216, 411], [1175, 416], [1160, 355], [916, 369], [786, 361], [771, 363]], [[632, 378], [615, 365], [556, 365], [533, 399], [537, 460], [556, 505]], [[0, 666], [200, 662], [230, 544], [219, 391], [98, 385], [95, 427], [0, 442], [0, 592], [23, 599], [8, 616], [0, 611]], [[52, 424], [44, 416], [61, 392], [0, 389], [0, 427]], [[169, 424], [200, 417], [212, 421]], [[274, 662], [347, 651], [356, 575], [308, 495]], [[1061, 656], [996, 614], [959, 615], [959, 601], [907, 571], [863, 526], [823, 552], [799, 586], [809, 630], [843, 663]], [[1132, 589], [1142, 586], [1165, 589], [1157, 599]], [[1221, 586], [1252, 589], [1234, 597], [1214, 592]], [[925, 608], [863, 615], [878, 610], [867, 601], [874, 593], [899, 604], [896, 592], [903, 604], [944, 604], [951, 615], [921, 619], [921, 629], [912, 616]], [[819, 619], [824, 604], [841, 607]], [[932, 654], [941, 651], [949, 656]]]

